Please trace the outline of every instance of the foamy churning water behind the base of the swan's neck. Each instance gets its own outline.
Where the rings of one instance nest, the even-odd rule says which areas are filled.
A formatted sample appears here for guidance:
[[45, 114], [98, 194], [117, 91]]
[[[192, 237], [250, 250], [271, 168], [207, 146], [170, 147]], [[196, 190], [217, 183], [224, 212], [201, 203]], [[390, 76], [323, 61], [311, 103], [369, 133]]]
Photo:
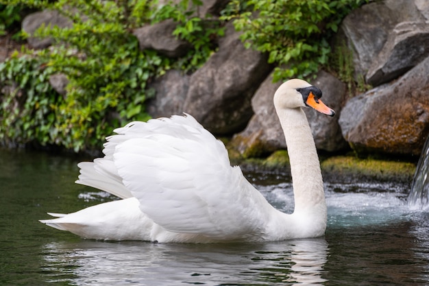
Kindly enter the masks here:
[[[291, 182], [258, 185], [257, 188], [275, 208], [284, 213], [293, 213]], [[406, 193], [408, 191], [403, 186], [390, 182], [326, 182], [328, 227], [373, 226], [402, 221], [410, 214]]]

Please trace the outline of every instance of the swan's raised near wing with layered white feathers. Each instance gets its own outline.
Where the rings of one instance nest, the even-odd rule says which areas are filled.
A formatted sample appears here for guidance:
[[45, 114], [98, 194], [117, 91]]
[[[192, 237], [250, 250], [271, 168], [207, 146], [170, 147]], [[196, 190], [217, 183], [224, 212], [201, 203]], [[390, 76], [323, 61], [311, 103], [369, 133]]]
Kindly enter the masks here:
[[[115, 145], [114, 165], [156, 224], [213, 239], [263, 234], [274, 208], [239, 167], [230, 166], [223, 143], [193, 117], [131, 123], [117, 132], [141, 135]], [[115, 141], [116, 136], [122, 135], [114, 135]]]

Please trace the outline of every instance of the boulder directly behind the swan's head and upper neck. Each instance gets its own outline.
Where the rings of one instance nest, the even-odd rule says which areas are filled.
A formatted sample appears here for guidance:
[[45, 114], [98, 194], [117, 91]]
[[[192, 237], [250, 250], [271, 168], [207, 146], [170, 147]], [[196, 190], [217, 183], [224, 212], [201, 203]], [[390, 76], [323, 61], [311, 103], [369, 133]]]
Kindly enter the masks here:
[[[231, 141], [232, 147], [245, 157], [259, 156], [286, 147], [282, 127], [273, 104], [274, 93], [280, 84], [281, 82], [273, 83], [270, 75], [260, 85], [252, 99], [255, 115], [249, 121], [247, 128], [236, 134]], [[323, 102], [336, 111], [336, 118], [338, 118], [345, 100], [345, 84], [325, 71], [320, 71], [312, 84], [321, 88]], [[305, 112], [317, 149], [333, 152], [347, 147], [336, 119], [319, 114], [311, 108], [306, 108]]]

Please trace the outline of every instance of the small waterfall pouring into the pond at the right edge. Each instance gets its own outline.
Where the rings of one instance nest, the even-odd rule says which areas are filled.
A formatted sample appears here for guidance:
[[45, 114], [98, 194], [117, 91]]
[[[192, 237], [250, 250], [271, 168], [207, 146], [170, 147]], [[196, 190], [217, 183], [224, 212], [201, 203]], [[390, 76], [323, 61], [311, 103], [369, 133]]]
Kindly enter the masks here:
[[413, 185], [408, 195], [408, 206], [412, 210], [429, 211], [429, 136], [417, 163]]

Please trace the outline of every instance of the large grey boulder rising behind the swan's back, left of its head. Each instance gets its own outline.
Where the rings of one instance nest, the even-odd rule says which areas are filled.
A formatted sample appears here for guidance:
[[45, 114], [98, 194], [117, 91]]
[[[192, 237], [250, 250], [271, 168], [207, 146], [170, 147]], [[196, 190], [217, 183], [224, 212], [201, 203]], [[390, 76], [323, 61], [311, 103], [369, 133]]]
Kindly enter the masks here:
[[253, 115], [250, 100], [269, 71], [267, 56], [245, 49], [228, 24], [219, 51], [191, 75], [184, 111], [215, 134], [243, 130]]

